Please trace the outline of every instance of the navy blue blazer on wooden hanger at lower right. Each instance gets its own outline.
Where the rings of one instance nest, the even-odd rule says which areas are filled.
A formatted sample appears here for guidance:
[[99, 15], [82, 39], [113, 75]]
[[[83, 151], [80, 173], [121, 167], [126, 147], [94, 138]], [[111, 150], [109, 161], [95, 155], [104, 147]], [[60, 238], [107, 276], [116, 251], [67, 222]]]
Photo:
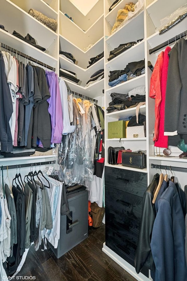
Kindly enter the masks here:
[[154, 281], [186, 281], [185, 220], [172, 181], [159, 199], [150, 246], [156, 267]]

